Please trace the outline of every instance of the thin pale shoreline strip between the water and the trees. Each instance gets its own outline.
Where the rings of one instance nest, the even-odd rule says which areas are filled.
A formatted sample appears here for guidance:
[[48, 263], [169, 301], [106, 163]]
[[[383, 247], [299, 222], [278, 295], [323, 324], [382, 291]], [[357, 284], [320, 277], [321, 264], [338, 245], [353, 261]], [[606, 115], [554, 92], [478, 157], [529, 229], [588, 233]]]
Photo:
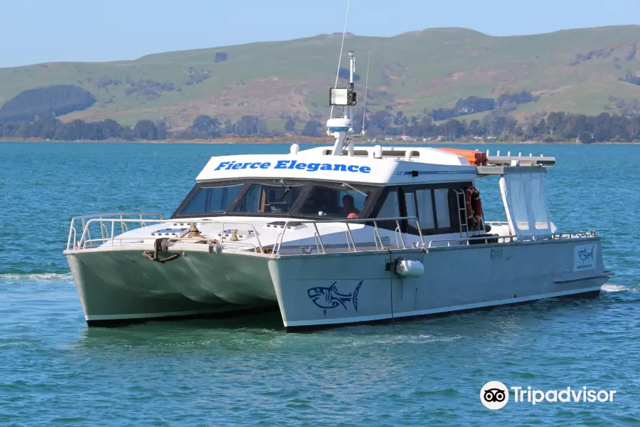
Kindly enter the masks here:
[[[299, 139], [265, 139], [265, 138], [231, 138], [231, 139], [41, 139], [41, 138], [0, 138], [0, 143], [8, 142], [20, 142], [20, 143], [41, 143], [46, 142], [50, 144], [333, 144], [333, 139], [326, 137], [302, 137]], [[363, 140], [356, 140], [356, 145], [636, 145], [637, 142], [592, 142], [591, 144], [582, 144], [575, 141], [559, 141], [559, 142], [540, 142], [540, 141], [375, 141], [368, 142]]]

